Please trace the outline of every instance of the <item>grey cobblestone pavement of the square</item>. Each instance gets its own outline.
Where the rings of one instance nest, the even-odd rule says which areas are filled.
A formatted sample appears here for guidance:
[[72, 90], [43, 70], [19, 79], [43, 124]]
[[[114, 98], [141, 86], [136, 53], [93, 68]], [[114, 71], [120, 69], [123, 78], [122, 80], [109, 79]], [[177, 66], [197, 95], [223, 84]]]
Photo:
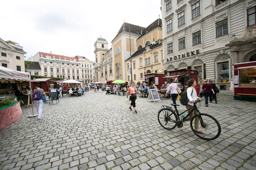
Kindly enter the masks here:
[[138, 114], [128, 109], [126, 96], [101, 90], [44, 104], [41, 120], [28, 118], [31, 106], [22, 107], [20, 119], [0, 130], [0, 170], [256, 169], [255, 102], [220, 91], [217, 105], [202, 105], [200, 111], [222, 127], [219, 138], [205, 141], [187, 123], [162, 128], [157, 113], [170, 99], [160, 98], [138, 97]]

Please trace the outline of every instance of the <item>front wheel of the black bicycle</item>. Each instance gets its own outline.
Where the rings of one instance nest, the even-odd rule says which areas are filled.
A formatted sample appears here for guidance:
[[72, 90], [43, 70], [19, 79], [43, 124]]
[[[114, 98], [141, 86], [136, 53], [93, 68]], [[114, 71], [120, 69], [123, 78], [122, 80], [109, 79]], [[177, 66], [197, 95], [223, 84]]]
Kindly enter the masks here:
[[[203, 132], [203, 134], [198, 133], [196, 132], [196, 130], [194, 130], [196, 128], [195, 124], [197, 124], [194, 123], [194, 121], [198, 121], [196, 120], [198, 118], [199, 126], [196, 130], [200, 130], [201, 132]], [[196, 136], [204, 140], [214, 140], [220, 136], [221, 132], [220, 123], [211, 115], [204, 113], [200, 113], [200, 115], [195, 115], [190, 121], [190, 127], [194, 134], [196, 134]]]

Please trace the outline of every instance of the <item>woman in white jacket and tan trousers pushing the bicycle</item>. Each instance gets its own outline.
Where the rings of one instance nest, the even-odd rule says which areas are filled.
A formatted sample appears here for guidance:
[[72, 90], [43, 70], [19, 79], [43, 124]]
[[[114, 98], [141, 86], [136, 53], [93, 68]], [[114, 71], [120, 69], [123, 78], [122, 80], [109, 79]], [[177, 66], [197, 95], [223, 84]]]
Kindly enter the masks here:
[[[196, 102], [196, 100], [201, 100], [200, 97], [197, 97], [196, 95], [196, 80], [195, 79], [190, 79], [188, 82], [187, 82], [187, 85], [188, 85], [188, 89], [187, 89], [187, 96], [188, 96], [188, 104], [186, 105], [186, 109], [189, 109], [191, 106], [194, 105], [194, 103]], [[188, 110], [188, 113], [191, 111]], [[190, 121], [192, 119], [192, 117], [194, 115], [196, 115], [196, 110], [194, 110], [190, 115], [189, 117], [186, 119], [186, 121]], [[195, 118], [195, 131], [200, 133], [200, 134], [203, 134], [203, 132], [201, 132], [200, 130], [198, 130], [198, 125], [199, 125], [199, 119], [198, 117]]]

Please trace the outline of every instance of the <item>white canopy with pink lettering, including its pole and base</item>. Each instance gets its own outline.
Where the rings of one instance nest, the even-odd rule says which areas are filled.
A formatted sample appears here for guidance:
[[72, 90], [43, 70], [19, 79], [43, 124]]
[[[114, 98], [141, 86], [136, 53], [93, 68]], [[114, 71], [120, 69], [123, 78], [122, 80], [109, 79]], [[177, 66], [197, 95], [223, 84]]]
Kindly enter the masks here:
[[[25, 73], [22, 71], [16, 71], [12, 69], [8, 69], [6, 67], [0, 66], [0, 81], [29, 81], [30, 85], [30, 94], [32, 99], [32, 89], [31, 89], [31, 77], [30, 73]], [[33, 115], [30, 115], [28, 117], [36, 117], [37, 115], [34, 115], [34, 109], [32, 105], [32, 113]]]

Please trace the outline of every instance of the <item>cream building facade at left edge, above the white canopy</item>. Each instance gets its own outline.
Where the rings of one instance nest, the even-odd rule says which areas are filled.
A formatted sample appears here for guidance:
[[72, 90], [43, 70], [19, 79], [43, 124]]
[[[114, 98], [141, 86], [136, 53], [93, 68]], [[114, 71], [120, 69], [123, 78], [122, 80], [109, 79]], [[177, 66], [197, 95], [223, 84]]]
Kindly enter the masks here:
[[0, 38], [0, 64], [9, 69], [25, 72], [23, 47]]

